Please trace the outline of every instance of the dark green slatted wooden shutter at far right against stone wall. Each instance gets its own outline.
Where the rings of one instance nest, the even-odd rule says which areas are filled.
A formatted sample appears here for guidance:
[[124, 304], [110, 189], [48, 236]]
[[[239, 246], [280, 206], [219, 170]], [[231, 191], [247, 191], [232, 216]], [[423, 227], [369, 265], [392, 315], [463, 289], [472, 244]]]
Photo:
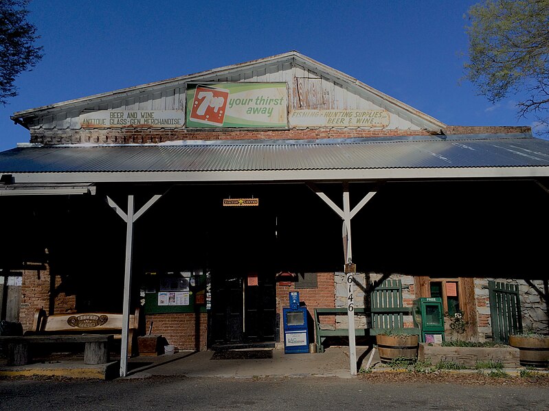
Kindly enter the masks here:
[[509, 343], [509, 335], [522, 333], [519, 286], [488, 281], [494, 342]]

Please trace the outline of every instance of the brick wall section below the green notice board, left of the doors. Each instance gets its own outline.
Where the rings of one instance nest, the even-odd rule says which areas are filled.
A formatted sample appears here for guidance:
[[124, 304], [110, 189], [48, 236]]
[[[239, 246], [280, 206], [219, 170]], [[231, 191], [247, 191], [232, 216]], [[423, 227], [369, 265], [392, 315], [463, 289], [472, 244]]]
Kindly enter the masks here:
[[205, 351], [207, 349], [208, 314], [171, 313], [147, 314], [146, 332], [153, 322], [152, 333], [161, 335], [178, 349]]

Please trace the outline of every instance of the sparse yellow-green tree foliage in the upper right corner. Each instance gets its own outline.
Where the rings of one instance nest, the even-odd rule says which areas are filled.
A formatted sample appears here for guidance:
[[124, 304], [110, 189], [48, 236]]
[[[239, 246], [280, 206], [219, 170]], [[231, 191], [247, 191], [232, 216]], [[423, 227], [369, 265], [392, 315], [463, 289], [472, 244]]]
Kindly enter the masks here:
[[549, 0], [484, 0], [466, 17], [465, 78], [493, 103], [526, 96], [519, 117], [532, 113], [549, 126]]

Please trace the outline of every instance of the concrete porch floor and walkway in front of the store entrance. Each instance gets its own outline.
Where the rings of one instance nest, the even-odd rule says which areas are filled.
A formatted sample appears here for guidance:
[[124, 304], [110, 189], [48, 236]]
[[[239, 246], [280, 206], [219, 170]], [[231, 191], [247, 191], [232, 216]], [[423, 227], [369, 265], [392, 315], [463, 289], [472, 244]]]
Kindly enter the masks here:
[[[222, 354], [214, 351], [179, 351], [172, 355], [139, 356], [128, 360], [127, 378], [153, 375], [181, 375], [188, 377], [352, 377], [348, 347], [329, 347], [324, 353], [284, 354], [283, 347]], [[238, 354], [239, 353], [239, 354]], [[357, 359], [368, 362], [368, 347], [357, 347]], [[374, 355], [372, 365], [379, 363]], [[87, 365], [82, 356], [56, 357], [25, 366], [0, 364], [0, 376], [60, 375], [66, 377], [109, 379], [120, 373], [120, 363]]]

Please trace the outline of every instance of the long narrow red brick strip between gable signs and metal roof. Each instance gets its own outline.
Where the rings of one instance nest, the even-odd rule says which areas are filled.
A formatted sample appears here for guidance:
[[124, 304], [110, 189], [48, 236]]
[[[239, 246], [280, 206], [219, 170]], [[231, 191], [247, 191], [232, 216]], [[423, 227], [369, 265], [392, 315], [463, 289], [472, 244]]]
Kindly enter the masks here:
[[361, 130], [341, 128], [315, 128], [291, 130], [131, 130], [131, 129], [80, 129], [45, 130], [32, 128], [31, 143], [43, 144], [125, 144], [164, 143], [181, 140], [270, 140], [270, 139], [341, 139], [351, 137], [390, 137], [432, 134], [425, 130]]

